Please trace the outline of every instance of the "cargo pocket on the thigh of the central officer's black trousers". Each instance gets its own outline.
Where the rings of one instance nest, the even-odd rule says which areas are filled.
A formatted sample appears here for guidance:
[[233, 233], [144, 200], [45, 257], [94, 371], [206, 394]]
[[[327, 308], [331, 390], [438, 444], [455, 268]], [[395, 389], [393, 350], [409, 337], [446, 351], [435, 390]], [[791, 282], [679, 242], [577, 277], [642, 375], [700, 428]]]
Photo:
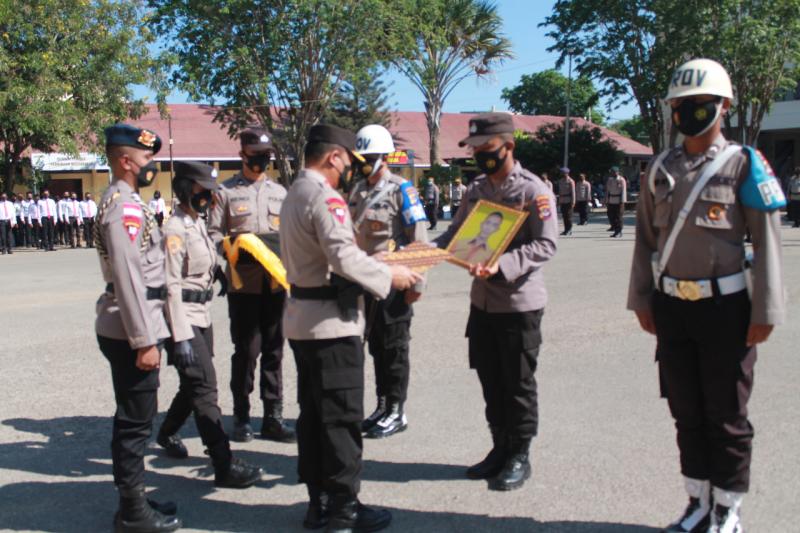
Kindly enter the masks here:
[[360, 422], [364, 418], [363, 368], [331, 368], [322, 371], [324, 424]]

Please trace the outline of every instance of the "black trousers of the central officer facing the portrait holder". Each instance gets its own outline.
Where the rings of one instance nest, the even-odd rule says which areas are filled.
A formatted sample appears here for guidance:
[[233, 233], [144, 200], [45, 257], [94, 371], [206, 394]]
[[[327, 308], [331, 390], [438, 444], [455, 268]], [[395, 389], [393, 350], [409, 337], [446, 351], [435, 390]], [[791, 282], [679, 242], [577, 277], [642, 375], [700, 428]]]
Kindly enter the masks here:
[[297, 363], [298, 474], [309, 492], [361, 488], [364, 347], [360, 337], [289, 340]]

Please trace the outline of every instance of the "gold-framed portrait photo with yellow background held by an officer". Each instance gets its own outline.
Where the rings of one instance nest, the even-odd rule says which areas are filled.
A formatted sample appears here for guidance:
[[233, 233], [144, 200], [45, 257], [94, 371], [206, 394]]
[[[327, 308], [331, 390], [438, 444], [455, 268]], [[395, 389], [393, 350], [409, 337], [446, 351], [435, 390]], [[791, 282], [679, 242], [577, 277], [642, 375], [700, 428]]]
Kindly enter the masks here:
[[506, 251], [527, 216], [527, 211], [478, 201], [447, 245], [447, 251], [452, 254], [448, 261], [464, 268], [479, 263], [492, 266]]

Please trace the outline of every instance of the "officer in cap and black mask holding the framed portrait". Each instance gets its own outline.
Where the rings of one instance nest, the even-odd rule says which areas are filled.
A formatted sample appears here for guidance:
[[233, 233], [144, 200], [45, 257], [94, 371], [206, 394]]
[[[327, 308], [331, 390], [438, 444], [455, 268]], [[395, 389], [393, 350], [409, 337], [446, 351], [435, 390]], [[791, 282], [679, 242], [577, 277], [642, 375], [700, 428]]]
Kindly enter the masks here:
[[478, 167], [464, 196], [466, 208], [436, 244], [445, 247], [478, 200], [529, 212], [507, 251], [494, 265], [473, 265], [467, 322], [470, 367], [478, 373], [494, 443], [470, 479], [489, 479], [492, 490], [521, 487], [530, 477], [528, 451], [538, 430], [536, 371], [547, 301], [543, 265], [556, 252], [558, 221], [550, 188], [514, 160], [514, 123], [507, 113], [479, 115], [469, 124]]

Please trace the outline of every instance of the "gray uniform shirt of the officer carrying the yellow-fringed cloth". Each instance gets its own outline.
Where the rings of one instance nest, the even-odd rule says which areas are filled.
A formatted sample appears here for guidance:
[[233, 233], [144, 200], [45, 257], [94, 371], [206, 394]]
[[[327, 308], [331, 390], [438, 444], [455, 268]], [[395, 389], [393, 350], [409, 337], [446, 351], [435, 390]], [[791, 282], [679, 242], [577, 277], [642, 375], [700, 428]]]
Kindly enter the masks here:
[[[286, 189], [269, 178], [253, 182], [237, 174], [222, 182], [208, 218], [208, 234], [217, 246], [220, 257], [222, 239], [227, 235], [233, 238], [241, 233], [276, 233], [281, 227], [280, 212], [284, 198]], [[236, 271], [243, 283], [238, 290], [233, 287], [230, 266], [225, 268], [230, 292], [261, 294], [262, 283], [269, 278], [260, 264], [239, 262]]]

